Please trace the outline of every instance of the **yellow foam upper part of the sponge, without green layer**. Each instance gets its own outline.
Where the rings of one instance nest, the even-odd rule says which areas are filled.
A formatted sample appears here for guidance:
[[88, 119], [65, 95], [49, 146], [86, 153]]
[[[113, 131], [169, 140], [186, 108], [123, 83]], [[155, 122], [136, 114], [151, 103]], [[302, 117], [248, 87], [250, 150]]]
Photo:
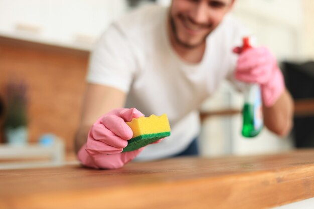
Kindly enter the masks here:
[[133, 118], [130, 122], [126, 122], [126, 124], [133, 131], [132, 138], [143, 134], [170, 132], [167, 114]]

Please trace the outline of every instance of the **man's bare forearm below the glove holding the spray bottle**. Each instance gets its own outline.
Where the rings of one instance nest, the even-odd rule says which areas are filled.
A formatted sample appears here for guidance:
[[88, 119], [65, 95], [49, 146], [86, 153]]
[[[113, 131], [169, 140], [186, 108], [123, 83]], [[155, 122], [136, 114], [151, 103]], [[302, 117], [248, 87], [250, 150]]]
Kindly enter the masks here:
[[264, 124], [279, 136], [285, 136], [292, 127], [293, 100], [285, 89], [274, 105], [263, 107]]

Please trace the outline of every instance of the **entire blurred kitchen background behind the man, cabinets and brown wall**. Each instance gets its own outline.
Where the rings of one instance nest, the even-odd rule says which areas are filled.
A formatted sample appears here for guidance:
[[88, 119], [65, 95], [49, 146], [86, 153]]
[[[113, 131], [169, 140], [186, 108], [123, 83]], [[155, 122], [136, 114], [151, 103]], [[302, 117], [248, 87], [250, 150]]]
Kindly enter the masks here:
[[[41, 165], [75, 160], [73, 139], [94, 43], [126, 12], [170, 2], [0, 0], [0, 168], [43, 158]], [[202, 155], [313, 147], [314, 1], [237, 0], [233, 15], [280, 62], [295, 99], [294, 128], [284, 138], [266, 129], [243, 138], [243, 96], [224, 83], [202, 107]]]

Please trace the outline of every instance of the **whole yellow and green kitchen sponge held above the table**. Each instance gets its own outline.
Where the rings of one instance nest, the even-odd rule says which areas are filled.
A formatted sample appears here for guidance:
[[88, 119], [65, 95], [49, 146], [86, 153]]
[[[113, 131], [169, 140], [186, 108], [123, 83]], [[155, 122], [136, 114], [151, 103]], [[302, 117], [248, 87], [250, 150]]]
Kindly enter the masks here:
[[132, 129], [133, 137], [128, 140], [128, 144], [122, 152], [133, 151], [161, 138], [170, 136], [171, 130], [166, 114], [133, 118], [132, 121], [126, 122], [126, 124]]

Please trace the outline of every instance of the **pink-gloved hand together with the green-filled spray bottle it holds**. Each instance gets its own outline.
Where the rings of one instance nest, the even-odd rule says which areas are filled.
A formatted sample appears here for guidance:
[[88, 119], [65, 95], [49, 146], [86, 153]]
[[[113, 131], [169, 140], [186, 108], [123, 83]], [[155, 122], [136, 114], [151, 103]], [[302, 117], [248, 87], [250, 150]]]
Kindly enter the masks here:
[[262, 105], [269, 108], [284, 91], [283, 75], [275, 57], [265, 47], [252, 47], [249, 38], [233, 51], [239, 54], [236, 79], [245, 82], [243, 128], [245, 137], [257, 136], [263, 128]]

